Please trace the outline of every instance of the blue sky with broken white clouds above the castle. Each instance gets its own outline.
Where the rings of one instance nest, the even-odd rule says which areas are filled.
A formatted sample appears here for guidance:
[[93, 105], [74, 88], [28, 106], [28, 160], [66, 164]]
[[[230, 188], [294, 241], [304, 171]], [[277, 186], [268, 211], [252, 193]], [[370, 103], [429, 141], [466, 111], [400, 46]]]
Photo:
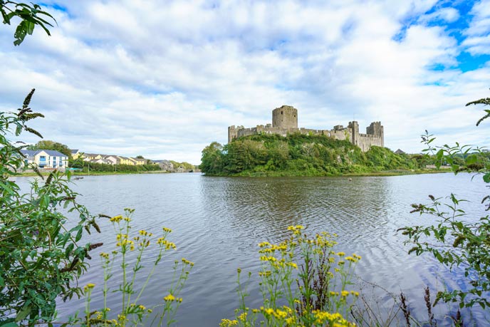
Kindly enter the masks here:
[[490, 97], [490, 0], [37, 3], [51, 36], [14, 46], [0, 25], [0, 110], [36, 88], [31, 127], [73, 149], [197, 165], [281, 105], [304, 128], [381, 121], [392, 150], [420, 152], [424, 130], [489, 145], [465, 104]]

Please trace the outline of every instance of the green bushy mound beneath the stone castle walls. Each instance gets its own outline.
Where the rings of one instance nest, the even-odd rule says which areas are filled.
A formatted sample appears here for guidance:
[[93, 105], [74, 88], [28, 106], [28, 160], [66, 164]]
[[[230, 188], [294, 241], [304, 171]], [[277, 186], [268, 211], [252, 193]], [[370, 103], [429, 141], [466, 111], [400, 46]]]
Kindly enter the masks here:
[[322, 135], [252, 135], [228, 145], [212, 142], [202, 150], [207, 175], [335, 176], [417, 170], [422, 162], [385, 147], [362, 152], [346, 140]]

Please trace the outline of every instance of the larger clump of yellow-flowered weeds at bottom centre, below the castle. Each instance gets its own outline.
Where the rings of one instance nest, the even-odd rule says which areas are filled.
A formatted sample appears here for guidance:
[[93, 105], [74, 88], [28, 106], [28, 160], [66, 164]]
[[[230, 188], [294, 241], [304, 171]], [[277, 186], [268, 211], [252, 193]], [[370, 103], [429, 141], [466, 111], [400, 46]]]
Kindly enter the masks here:
[[246, 306], [249, 294], [240, 282], [238, 269], [240, 307], [235, 319], [223, 319], [221, 327], [355, 326], [345, 317], [359, 296], [352, 289], [351, 279], [360, 256], [335, 253], [335, 235], [323, 232], [308, 237], [301, 225], [288, 230], [291, 236], [280, 244], [259, 244], [261, 306]]

